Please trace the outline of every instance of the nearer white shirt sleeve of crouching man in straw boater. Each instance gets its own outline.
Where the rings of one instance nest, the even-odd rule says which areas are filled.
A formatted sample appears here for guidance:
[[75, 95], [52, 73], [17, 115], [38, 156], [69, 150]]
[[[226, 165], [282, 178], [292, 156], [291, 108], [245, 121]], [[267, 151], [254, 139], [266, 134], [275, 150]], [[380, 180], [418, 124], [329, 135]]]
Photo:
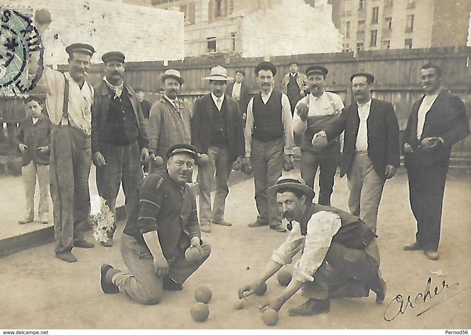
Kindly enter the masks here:
[[340, 228], [338, 214], [320, 211], [311, 216], [301, 258], [294, 264], [293, 279], [314, 281], [313, 274], [324, 262], [332, 238]]

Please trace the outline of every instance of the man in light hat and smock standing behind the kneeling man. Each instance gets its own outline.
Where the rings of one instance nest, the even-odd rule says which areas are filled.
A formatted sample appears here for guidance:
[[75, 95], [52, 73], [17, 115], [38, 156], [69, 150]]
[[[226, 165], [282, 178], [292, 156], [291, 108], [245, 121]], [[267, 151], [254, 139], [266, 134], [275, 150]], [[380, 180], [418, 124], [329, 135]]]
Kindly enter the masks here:
[[[167, 150], [175, 144], [191, 143], [190, 110], [178, 97], [185, 82], [178, 70], [169, 69], [159, 76], [163, 96], [153, 105], [149, 115], [149, 173], [165, 171]], [[163, 161], [163, 163], [162, 163]], [[189, 176], [191, 181], [191, 175]]]

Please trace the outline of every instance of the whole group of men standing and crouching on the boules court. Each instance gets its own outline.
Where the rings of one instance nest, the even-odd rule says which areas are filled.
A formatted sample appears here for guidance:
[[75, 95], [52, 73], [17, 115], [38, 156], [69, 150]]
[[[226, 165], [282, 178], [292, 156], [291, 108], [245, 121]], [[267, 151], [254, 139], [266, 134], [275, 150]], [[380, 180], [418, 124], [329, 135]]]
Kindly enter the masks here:
[[[372, 98], [372, 74], [350, 77], [355, 103], [344, 108], [338, 95], [325, 92], [328, 70], [309, 66], [298, 94], [310, 93], [292, 108], [295, 97], [274, 89], [276, 66], [262, 62], [255, 68], [260, 92], [245, 107], [240, 81], [228, 88], [233, 78], [216, 66], [205, 78], [210, 93], [198, 99], [190, 113], [179, 99], [184, 79], [178, 70], [169, 69], [160, 77], [163, 95], [153, 104], [146, 125], [136, 92], [123, 80], [121, 52], [102, 56], [105, 76], [93, 88], [85, 75], [94, 48], [73, 44], [66, 51], [69, 71], [46, 68], [39, 83], [46, 91], [52, 123], [50, 185], [57, 258], [75, 262], [73, 247], [94, 246], [83, 235], [93, 160], [99, 194], [115, 213], [122, 184], [128, 216], [121, 252], [129, 271], [104, 264], [101, 287], [108, 294], [125, 292], [139, 303], [159, 303], [162, 290], [181, 290], [211, 254], [201, 231], [210, 232], [211, 224], [231, 225], [224, 209], [235, 163], [254, 176], [259, 215], [249, 226], [268, 225], [284, 232], [283, 218], [292, 228], [260, 279], [239, 290], [241, 297], [252, 294], [302, 249], [294, 280], [267, 308], [279, 310], [300, 287], [309, 299], [290, 310], [292, 315], [324, 313], [330, 298], [367, 296], [370, 290], [382, 303], [385, 282], [379, 272], [376, 218], [385, 180], [399, 166], [400, 148], [393, 106]], [[468, 135], [469, 127], [461, 100], [441, 90], [440, 68], [426, 64], [421, 76], [425, 96], [414, 104], [403, 147], [417, 220], [416, 242], [405, 249], [421, 249], [429, 259], [438, 259], [451, 146]], [[298, 77], [287, 79], [288, 93], [294, 92]], [[307, 183], [282, 176], [283, 170], [294, 168], [294, 133], [303, 136], [301, 177]], [[141, 163], [147, 160], [150, 174], [143, 179]], [[339, 161], [341, 176], [348, 179], [350, 214], [330, 206]], [[188, 185], [195, 165], [199, 215]], [[317, 166], [319, 204], [313, 203]], [[104, 246], [113, 245], [113, 232]], [[198, 256], [190, 260], [187, 249], [197, 250]]]

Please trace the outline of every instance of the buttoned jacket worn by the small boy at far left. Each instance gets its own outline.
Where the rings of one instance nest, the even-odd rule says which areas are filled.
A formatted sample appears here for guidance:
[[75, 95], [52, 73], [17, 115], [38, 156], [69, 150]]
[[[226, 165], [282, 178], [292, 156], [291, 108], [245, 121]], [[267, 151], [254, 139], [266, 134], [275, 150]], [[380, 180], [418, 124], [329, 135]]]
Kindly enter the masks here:
[[22, 166], [28, 165], [31, 161], [39, 165], [49, 165], [50, 152], [41, 152], [38, 147], [50, 147], [51, 129], [51, 121], [42, 114], [35, 125], [32, 124], [31, 117], [21, 121], [16, 135], [17, 144], [23, 143], [27, 146], [21, 157]]

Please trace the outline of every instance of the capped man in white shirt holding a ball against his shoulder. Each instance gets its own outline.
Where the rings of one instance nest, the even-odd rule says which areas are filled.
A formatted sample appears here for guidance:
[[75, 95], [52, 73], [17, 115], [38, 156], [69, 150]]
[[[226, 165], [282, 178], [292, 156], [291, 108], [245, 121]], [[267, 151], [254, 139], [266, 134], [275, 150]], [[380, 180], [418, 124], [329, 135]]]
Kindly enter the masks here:
[[321, 65], [311, 65], [306, 69], [311, 93], [302, 98], [294, 109], [293, 130], [296, 135], [303, 138], [301, 177], [309, 187], [314, 188], [317, 167], [319, 167], [317, 202], [320, 205], [330, 206], [334, 177], [340, 158], [340, 138], [334, 138], [325, 148], [318, 148], [311, 143], [314, 134], [333, 120], [337, 120], [345, 107], [339, 95], [324, 90], [327, 73], [328, 70]]

